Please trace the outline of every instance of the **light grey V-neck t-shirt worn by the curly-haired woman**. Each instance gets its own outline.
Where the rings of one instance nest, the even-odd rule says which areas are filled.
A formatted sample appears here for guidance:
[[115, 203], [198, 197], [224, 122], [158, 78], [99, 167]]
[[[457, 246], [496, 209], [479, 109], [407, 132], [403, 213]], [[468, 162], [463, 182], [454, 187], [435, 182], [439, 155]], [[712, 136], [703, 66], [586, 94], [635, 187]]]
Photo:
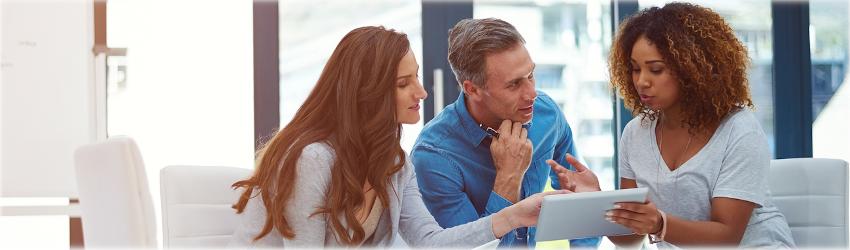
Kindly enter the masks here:
[[[757, 205], [741, 247], [793, 247], [785, 217], [773, 205], [768, 187], [770, 152], [767, 137], [752, 112], [728, 115], [708, 143], [679, 168], [670, 171], [655, 137], [655, 121], [636, 117], [620, 140], [620, 177], [649, 188], [661, 211], [685, 220], [711, 219], [711, 199], [727, 197]], [[675, 247], [667, 242], [660, 247]]]

